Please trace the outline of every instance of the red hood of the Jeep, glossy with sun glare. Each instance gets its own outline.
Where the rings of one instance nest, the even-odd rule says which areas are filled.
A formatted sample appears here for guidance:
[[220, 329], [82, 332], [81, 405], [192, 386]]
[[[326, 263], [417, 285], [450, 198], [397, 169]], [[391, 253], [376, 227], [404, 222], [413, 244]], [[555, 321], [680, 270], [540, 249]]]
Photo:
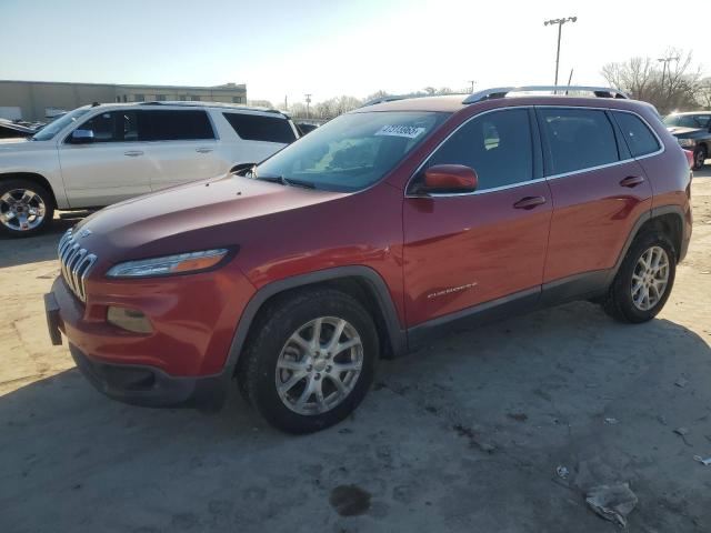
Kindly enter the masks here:
[[228, 174], [116, 203], [84, 219], [74, 232], [81, 245], [101, 260], [207, 250], [239, 243], [237, 227], [228, 227], [242, 220], [303, 209], [348, 194]]

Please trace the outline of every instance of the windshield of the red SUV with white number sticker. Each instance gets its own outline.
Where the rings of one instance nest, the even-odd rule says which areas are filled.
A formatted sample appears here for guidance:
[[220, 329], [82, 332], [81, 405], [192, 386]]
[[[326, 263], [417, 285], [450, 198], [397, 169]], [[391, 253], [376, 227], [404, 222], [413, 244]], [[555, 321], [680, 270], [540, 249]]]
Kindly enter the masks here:
[[448, 115], [424, 111], [343, 114], [261, 163], [257, 177], [358, 191], [382, 179]]

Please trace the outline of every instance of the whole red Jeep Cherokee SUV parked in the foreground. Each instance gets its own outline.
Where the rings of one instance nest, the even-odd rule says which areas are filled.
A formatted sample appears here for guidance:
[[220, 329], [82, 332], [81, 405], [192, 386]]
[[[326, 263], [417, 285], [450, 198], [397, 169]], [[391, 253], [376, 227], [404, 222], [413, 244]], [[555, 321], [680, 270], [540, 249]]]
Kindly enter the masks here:
[[650, 320], [691, 235], [689, 161], [651, 105], [554, 90], [369, 102], [103, 209], [59, 243], [52, 341], [117, 400], [216, 408], [236, 379], [309, 432], [453, 324], [579, 299]]

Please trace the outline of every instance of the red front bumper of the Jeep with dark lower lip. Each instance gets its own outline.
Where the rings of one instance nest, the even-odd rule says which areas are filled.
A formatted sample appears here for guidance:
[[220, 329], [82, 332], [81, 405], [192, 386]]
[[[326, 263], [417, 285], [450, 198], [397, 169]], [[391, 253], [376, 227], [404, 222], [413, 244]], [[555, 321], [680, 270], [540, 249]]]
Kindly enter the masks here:
[[[180, 282], [181, 286], [173, 280], [160, 285], [151, 282], [149, 289], [138, 282], [126, 283], [122, 293], [111, 285], [108, 295], [92, 292], [83, 305], [58, 278], [52, 292], [44, 295], [50, 339], [61, 344], [66, 336], [79, 370], [97, 390], [114, 400], [146, 406], [218, 409], [234, 370], [226, 364], [237, 314], [229, 313], [234, 308], [228, 303], [239, 306], [240, 302], [220, 302], [216, 291], [223, 290], [226, 283], [213, 283], [207, 275], [184, 276]], [[202, 291], [188, 291], [196, 283]], [[247, 291], [229, 294], [234, 293]], [[200, 299], [211, 299], [212, 306]], [[108, 323], [106, 310], [111, 304], [147, 310], [154, 331], [137, 334]], [[223, 316], [227, 320], [220, 320]]]

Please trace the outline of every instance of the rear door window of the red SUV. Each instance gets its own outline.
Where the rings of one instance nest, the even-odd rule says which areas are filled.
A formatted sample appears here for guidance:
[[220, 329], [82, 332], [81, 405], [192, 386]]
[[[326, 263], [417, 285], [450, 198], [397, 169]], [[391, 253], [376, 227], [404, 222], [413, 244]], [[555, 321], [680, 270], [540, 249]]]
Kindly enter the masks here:
[[550, 150], [549, 175], [620, 160], [614, 130], [604, 111], [543, 108], [540, 113]]

